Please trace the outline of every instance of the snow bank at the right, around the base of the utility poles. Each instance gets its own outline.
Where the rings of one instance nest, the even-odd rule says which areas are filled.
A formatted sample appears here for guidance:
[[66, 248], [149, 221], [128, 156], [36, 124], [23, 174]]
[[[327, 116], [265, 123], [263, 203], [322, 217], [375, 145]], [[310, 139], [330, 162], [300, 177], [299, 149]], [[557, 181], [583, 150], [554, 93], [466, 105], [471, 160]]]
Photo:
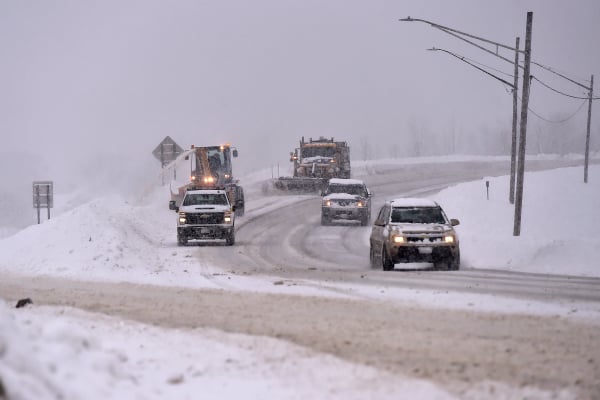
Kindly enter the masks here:
[[[590, 176], [600, 175], [590, 166]], [[486, 181], [490, 199], [486, 196]], [[458, 218], [462, 262], [473, 268], [600, 276], [600, 184], [581, 167], [527, 173], [521, 235], [513, 236], [509, 177], [456, 185], [431, 196]]]

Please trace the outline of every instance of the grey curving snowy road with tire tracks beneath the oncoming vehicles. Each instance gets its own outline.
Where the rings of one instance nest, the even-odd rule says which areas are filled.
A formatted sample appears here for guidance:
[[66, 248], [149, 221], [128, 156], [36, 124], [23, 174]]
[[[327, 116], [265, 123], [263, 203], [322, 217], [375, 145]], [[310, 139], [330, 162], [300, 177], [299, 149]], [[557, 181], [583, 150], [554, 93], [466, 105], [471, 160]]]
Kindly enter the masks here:
[[[530, 162], [528, 168], [536, 170], [558, 165], [564, 166], [565, 162], [536, 161]], [[386, 200], [422, 196], [461, 181], [500, 175], [506, 173], [506, 163], [421, 164], [370, 173], [364, 180], [374, 193], [374, 219]], [[295, 197], [294, 203], [242, 219], [237, 228], [235, 251], [202, 246], [197, 256], [238, 274], [278, 276], [288, 285], [314, 280], [324, 289], [328, 283], [335, 283], [336, 286], [331, 287], [335, 292], [340, 290], [337, 284], [362, 283], [541, 301], [600, 301], [598, 278], [502, 271], [494, 270], [493, 266], [476, 269], [465, 263], [457, 272], [427, 270], [427, 264], [399, 264], [393, 272], [372, 269], [368, 257], [370, 226], [361, 227], [354, 222], [321, 226], [319, 196]], [[281, 196], [272, 198], [272, 203], [282, 200]]]

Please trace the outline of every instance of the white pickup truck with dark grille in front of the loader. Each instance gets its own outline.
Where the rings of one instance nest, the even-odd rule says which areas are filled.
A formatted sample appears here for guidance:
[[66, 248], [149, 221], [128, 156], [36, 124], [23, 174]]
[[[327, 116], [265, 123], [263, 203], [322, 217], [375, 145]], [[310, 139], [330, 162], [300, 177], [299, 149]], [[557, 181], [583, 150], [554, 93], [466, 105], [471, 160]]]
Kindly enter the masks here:
[[181, 205], [171, 200], [169, 208], [178, 212], [177, 243], [185, 246], [190, 240], [225, 240], [235, 243], [235, 206], [225, 190], [189, 189]]

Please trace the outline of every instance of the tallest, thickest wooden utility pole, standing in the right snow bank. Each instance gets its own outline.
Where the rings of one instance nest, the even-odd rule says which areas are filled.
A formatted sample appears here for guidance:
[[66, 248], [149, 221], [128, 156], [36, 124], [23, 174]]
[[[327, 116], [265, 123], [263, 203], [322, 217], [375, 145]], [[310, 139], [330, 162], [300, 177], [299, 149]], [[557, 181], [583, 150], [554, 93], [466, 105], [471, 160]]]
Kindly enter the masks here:
[[525, 179], [525, 145], [527, 142], [527, 110], [529, 108], [529, 87], [531, 69], [531, 30], [533, 12], [527, 12], [525, 28], [525, 61], [523, 66], [523, 98], [521, 100], [521, 131], [519, 134], [519, 160], [517, 165], [517, 190], [515, 197], [515, 220], [513, 236], [521, 235], [521, 210], [523, 209], [523, 181]]

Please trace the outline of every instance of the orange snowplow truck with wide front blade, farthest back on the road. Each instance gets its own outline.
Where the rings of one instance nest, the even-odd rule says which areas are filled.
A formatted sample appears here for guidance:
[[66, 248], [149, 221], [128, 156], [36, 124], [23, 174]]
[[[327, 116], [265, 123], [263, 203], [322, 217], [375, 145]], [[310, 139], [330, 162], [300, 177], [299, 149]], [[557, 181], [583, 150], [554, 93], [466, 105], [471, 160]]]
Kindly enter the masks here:
[[350, 178], [350, 147], [333, 138], [321, 136], [305, 141], [302, 137], [300, 147], [290, 153], [290, 161], [294, 163], [294, 175], [277, 179], [277, 189], [315, 192], [331, 178]]

